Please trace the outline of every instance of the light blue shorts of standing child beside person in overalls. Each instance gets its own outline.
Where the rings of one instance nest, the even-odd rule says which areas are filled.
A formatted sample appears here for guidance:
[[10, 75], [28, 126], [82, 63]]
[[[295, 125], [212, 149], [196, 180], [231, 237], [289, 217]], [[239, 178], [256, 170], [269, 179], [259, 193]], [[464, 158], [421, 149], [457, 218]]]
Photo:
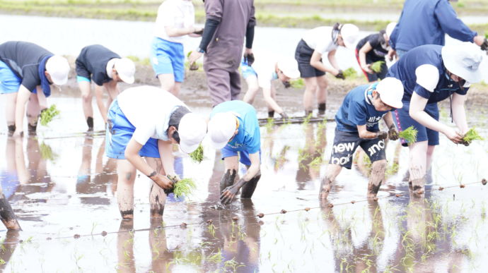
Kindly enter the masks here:
[[159, 74], [173, 74], [175, 82], [182, 83], [183, 79], [185, 79], [183, 44], [154, 37], [153, 44], [151, 44], [151, 64], [156, 76]]

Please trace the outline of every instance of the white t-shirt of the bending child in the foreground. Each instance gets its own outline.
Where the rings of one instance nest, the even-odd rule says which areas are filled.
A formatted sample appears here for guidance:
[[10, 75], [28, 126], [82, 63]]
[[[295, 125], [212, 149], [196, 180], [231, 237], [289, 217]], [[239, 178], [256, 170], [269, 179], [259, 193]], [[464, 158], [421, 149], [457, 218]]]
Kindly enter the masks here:
[[169, 140], [168, 123], [176, 107], [187, 107], [168, 91], [153, 86], [131, 87], [117, 96], [120, 110], [134, 125], [132, 137], [139, 144], [146, 144], [149, 138]]

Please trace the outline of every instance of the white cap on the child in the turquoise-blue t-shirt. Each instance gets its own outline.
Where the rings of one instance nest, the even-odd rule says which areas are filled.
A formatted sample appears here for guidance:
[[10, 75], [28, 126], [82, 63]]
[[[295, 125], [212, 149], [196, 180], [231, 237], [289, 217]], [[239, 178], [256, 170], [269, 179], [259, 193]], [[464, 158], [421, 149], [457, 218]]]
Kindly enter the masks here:
[[222, 149], [236, 132], [236, 116], [230, 112], [217, 113], [209, 121], [209, 135], [211, 145], [215, 149]]

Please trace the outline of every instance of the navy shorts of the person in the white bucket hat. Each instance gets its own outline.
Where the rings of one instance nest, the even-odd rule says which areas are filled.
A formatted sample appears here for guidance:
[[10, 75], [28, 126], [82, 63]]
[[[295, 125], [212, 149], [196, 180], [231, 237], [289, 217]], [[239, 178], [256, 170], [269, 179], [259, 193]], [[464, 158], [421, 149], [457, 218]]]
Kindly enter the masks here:
[[[431, 146], [439, 145], [439, 133], [432, 129], [426, 128], [422, 124], [418, 123], [410, 115], [408, 111], [410, 109], [409, 102], [403, 102], [403, 108], [395, 110], [395, 126], [397, 126], [398, 131], [405, 130], [410, 126], [414, 126], [417, 129], [417, 142], [427, 141]], [[426, 104], [424, 111], [426, 111], [429, 116], [434, 118], [436, 121], [439, 120], [439, 109], [436, 103]], [[402, 145], [407, 146], [407, 142], [402, 139]]]

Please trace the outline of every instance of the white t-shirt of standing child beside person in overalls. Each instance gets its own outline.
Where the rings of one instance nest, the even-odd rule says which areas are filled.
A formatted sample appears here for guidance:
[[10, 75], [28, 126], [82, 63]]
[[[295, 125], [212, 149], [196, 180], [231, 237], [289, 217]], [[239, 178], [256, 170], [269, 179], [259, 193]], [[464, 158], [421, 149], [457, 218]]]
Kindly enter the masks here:
[[186, 35], [169, 37], [166, 34], [165, 27], [189, 28], [194, 25], [194, 21], [195, 12], [192, 1], [165, 0], [158, 8], [154, 36], [181, 44]]

